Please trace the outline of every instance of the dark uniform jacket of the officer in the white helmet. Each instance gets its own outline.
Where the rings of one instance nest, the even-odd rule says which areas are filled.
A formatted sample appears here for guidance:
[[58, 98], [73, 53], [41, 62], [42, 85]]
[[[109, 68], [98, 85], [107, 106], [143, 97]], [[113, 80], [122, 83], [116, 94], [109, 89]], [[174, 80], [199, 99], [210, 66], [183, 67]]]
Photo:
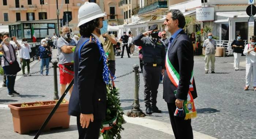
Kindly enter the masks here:
[[[94, 119], [104, 119], [106, 115], [106, 84], [103, 82], [103, 59], [99, 48], [90, 38], [81, 38], [74, 53], [74, 88], [69, 100], [68, 113], [93, 113]], [[96, 40], [93, 37], [94, 40]], [[80, 53], [79, 53], [79, 49]], [[79, 58], [80, 55], [80, 58]]]

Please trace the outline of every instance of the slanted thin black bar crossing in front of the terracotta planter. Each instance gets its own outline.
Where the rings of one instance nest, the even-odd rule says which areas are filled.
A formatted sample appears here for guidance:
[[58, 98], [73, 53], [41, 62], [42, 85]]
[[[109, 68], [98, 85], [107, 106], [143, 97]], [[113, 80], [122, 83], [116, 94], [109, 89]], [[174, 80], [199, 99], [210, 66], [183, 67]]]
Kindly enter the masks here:
[[45, 128], [45, 126], [47, 125], [47, 123], [50, 121], [50, 119], [52, 118], [53, 114], [55, 113], [55, 111], [57, 110], [57, 108], [59, 107], [61, 101], [64, 99], [64, 97], [66, 96], [66, 94], [68, 93], [69, 89], [72, 87], [72, 85], [74, 84], [74, 78], [72, 79], [72, 81], [70, 82], [70, 84], [68, 85], [68, 88], [65, 90], [65, 92], [63, 93], [63, 95], [60, 97], [60, 100], [57, 102], [57, 104], [53, 107], [51, 113], [48, 115], [48, 117], [46, 118], [44, 124], [41, 126], [41, 128], [38, 130], [37, 134], [35, 135], [34, 139], [37, 139], [39, 137], [39, 135], [41, 134], [42, 130]]

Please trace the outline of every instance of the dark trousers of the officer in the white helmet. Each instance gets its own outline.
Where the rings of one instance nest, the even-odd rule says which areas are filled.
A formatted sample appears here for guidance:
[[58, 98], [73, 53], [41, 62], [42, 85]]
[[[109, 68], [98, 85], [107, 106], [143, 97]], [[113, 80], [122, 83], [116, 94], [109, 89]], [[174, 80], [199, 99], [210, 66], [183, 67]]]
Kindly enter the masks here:
[[93, 122], [90, 121], [88, 128], [81, 127], [80, 124], [80, 116], [76, 117], [76, 124], [79, 133], [79, 139], [98, 139], [99, 138], [99, 130], [101, 127], [101, 120], [95, 120]]

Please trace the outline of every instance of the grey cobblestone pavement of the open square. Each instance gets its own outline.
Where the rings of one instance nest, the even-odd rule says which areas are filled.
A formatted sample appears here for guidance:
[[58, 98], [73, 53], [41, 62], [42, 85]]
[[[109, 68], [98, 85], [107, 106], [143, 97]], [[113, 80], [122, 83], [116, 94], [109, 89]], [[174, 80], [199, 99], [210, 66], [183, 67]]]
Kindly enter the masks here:
[[[194, 76], [198, 94], [198, 98], [195, 100], [195, 105], [198, 115], [196, 119], [192, 120], [193, 130], [219, 139], [256, 139], [256, 109], [254, 109], [256, 92], [253, 90], [243, 90], [243, 87], [245, 86], [245, 67], [240, 67], [239, 71], [234, 71], [233, 65], [230, 64], [233, 62], [233, 57], [216, 57], [216, 74], [205, 74], [204, 57], [197, 56], [194, 58], [194, 61]], [[241, 61], [245, 61], [245, 57], [242, 57]], [[139, 65], [139, 58], [116, 58], [116, 76], [132, 71], [133, 64]], [[37, 63], [31, 72], [38, 70], [39, 63]], [[134, 73], [116, 79], [115, 84], [120, 88], [120, 100], [125, 113], [127, 113], [131, 110], [131, 105], [133, 103]], [[250, 89], [252, 89], [252, 87]], [[31, 77], [20, 78], [15, 84], [15, 90], [21, 93], [20, 97], [8, 97], [7, 89], [0, 88], [0, 104], [52, 100], [53, 70], [50, 69], [49, 76], [40, 76], [37, 74]], [[140, 108], [145, 111], [146, 108], [143, 103], [143, 91], [144, 82], [142, 74], [140, 74]], [[153, 113], [153, 115], [147, 115], [144, 118], [170, 123], [167, 105], [162, 97], [163, 86], [160, 84], [158, 89], [157, 106], [163, 112]], [[67, 95], [66, 98], [69, 99], [69, 96]], [[0, 119], [11, 121], [10, 110], [0, 109], [0, 113]], [[14, 135], [14, 138], [16, 135], [17, 138], [23, 138], [23, 135], [19, 136], [18, 134], [13, 133], [12, 122], [0, 120], [0, 123], [2, 122], [4, 123], [4, 127], [0, 126], [0, 130], [4, 131], [0, 134], [0, 138], [1, 135], [4, 137], [8, 136], [9, 134], [5, 134], [7, 131], [12, 132], [12, 134], [10, 132], [8, 133], [10, 133], [10, 135]], [[152, 129], [150, 128], [141, 127], [138, 129], [133, 128], [132, 126], [137, 127], [137, 125], [127, 124], [127, 127], [129, 128], [122, 133], [124, 138], [129, 137], [129, 134], [132, 132], [140, 130], [142, 130], [140, 131], [142, 133], [140, 134], [140, 132], [136, 132], [135, 135], [138, 133], [138, 135], [141, 135], [143, 139], [146, 139], [146, 137], [143, 136], [143, 133], [146, 131], [152, 133], [150, 134], [147, 132], [149, 135], [154, 135], [155, 131], [151, 131]], [[130, 129], [131, 127], [132, 129]], [[70, 137], [74, 137], [76, 135], [75, 130], [75, 124], [71, 124], [71, 128], [68, 130], [56, 130], [49, 133], [46, 132], [44, 136], [45, 138], [50, 138], [50, 136], [47, 137], [47, 135], [52, 132], [64, 132], [67, 133], [67, 138], [69, 138], [69, 135]], [[129, 133], [129, 131], [131, 131], [131, 133]], [[56, 135], [62, 136], [62, 134], [58, 133], [56, 133]], [[159, 134], [165, 135], [161, 132]], [[65, 138], [65, 136], [62, 136], [62, 138], [63, 137]], [[171, 135], [169, 135], [169, 138], [170, 137]], [[153, 136], [148, 136], [147, 139], [154, 138]], [[159, 137], [159, 139], [162, 138]], [[163, 139], [165, 139], [165, 137], [163, 137]]]

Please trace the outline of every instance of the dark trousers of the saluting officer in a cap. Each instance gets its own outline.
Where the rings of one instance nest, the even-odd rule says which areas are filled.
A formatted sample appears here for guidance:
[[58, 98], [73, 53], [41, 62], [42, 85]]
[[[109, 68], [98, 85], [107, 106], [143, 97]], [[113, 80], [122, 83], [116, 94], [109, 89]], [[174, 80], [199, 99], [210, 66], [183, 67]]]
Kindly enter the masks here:
[[144, 102], [146, 107], [157, 105], [157, 89], [159, 86], [159, 78], [161, 73], [161, 66], [143, 66], [144, 77]]

